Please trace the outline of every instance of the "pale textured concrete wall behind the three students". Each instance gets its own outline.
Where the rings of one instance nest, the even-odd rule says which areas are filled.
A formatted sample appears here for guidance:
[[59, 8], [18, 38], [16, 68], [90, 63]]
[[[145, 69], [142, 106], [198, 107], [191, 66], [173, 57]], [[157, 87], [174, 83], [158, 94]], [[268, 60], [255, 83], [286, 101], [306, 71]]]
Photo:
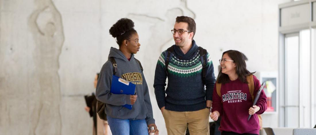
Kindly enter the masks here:
[[[123, 17], [135, 22], [136, 58], [156, 124], [167, 134], [153, 80], [159, 54], [174, 43], [175, 17], [195, 19], [194, 38], [214, 67], [223, 51], [234, 49], [246, 54], [250, 71], [277, 71], [278, 4], [290, 1], [0, 0], [0, 134], [90, 134], [83, 96], [94, 91], [110, 47], [118, 47], [108, 30]], [[278, 126], [277, 114], [263, 119], [264, 126]]]

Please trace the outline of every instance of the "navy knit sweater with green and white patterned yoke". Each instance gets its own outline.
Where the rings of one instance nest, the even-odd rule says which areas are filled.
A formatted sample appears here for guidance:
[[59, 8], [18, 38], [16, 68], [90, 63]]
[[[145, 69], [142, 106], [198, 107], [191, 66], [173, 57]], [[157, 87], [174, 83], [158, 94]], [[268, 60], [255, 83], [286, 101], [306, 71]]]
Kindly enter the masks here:
[[[158, 107], [171, 111], [197, 111], [206, 108], [206, 100], [212, 100], [215, 84], [214, 67], [207, 53], [206, 80], [202, 79], [202, 63], [199, 47], [192, 41], [186, 53], [174, 46], [174, 52], [165, 71], [166, 50], [161, 53], [155, 71], [155, 95]], [[165, 91], [166, 79], [168, 85]], [[206, 85], [206, 90], [204, 89]], [[167, 94], [167, 96], [166, 96]]]

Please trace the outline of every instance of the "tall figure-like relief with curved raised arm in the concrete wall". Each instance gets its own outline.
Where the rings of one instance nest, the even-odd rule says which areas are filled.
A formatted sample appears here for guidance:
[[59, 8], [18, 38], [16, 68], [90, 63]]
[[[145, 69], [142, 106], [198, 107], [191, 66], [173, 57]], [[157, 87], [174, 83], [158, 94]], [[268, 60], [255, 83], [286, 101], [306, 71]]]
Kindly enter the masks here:
[[35, 1], [28, 26], [35, 41], [29, 134], [61, 134], [59, 55], [64, 43], [61, 14], [51, 0]]

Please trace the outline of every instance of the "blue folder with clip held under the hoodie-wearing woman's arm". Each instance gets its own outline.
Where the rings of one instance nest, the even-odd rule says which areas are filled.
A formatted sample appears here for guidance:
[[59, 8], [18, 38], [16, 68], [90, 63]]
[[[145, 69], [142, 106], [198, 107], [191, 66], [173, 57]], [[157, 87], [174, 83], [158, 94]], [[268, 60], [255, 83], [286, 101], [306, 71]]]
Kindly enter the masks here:
[[[133, 83], [113, 75], [110, 92], [113, 94], [134, 95], [135, 87], [136, 85], [134, 85]], [[123, 106], [126, 107], [127, 109], [130, 109], [130, 110], [132, 109], [132, 105], [130, 104], [125, 104]]]

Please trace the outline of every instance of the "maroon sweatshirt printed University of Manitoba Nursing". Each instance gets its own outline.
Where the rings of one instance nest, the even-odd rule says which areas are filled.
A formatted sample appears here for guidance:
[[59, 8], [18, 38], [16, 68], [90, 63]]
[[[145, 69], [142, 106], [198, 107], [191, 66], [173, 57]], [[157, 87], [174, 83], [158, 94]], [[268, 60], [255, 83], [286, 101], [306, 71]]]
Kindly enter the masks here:
[[[260, 89], [260, 81], [253, 75], [254, 82], [254, 96], [257, 95]], [[260, 110], [249, 116], [249, 108], [252, 106], [252, 98], [249, 92], [248, 84], [241, 82], [239, 79], [229, 81], [229, 83], [222, 84], [221, 97], [217, 95], [216, 85], [213, 92], [212, 112], [218, 111], [222, 116], [220, 131], [236, 132], [236, 133], [252, 133], [259, 134], [259, 120], [257, 114], [262, 114], [267, 109], [267, 97], [264, 91], [261, 92], [257, 101], [257, 106]]]

